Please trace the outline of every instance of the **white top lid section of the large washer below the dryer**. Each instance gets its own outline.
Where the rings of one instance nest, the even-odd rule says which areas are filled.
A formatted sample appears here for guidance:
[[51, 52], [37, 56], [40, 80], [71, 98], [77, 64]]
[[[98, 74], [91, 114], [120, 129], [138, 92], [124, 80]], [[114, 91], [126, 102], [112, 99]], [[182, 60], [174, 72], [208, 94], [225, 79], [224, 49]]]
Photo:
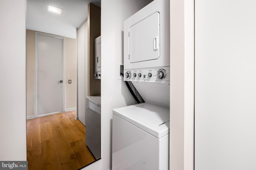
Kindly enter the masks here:
[[113, 109], [113, 114], [157, 138], [162, 138], [169, 133], [170, 109], [141, 103]]

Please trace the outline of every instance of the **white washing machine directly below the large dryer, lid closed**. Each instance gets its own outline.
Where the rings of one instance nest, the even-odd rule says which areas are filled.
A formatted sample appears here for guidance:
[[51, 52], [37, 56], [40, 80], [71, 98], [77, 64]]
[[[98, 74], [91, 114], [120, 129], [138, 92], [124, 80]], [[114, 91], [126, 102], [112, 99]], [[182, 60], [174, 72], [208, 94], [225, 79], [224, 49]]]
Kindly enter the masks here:
[[113, 109], [112, 170], [168, 170], [169, 120], [148, 103]]

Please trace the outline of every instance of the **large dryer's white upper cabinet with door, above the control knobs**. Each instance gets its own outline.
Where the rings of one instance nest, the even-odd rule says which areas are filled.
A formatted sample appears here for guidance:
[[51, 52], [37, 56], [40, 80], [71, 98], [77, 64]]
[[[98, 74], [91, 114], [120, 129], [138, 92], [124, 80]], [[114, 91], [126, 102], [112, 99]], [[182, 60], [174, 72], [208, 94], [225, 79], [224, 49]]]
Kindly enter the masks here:
[[124, 21], [124, 69], [169, 66], [170, 1], [154, 0]]

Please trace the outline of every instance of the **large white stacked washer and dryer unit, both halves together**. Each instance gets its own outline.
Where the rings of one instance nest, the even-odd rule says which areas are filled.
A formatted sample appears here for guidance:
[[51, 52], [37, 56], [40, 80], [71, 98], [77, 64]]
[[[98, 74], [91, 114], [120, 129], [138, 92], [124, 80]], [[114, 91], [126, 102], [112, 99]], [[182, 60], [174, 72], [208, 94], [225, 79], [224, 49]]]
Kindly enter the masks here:
[[124, 21], [124, 81], [145, 103], [113, 109], [112, 170], [168, 170], [169, 0], [154, 0]]

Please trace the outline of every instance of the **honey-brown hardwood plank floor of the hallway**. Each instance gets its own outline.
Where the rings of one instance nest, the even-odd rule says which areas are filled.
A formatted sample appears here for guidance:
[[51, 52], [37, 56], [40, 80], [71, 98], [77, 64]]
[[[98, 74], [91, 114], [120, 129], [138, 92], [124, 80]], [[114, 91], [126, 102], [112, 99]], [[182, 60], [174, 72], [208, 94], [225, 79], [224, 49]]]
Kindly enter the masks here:
[[77, 170], [95, 161], [75, 116], [68, 111], [27, 120], [28, 170]]

